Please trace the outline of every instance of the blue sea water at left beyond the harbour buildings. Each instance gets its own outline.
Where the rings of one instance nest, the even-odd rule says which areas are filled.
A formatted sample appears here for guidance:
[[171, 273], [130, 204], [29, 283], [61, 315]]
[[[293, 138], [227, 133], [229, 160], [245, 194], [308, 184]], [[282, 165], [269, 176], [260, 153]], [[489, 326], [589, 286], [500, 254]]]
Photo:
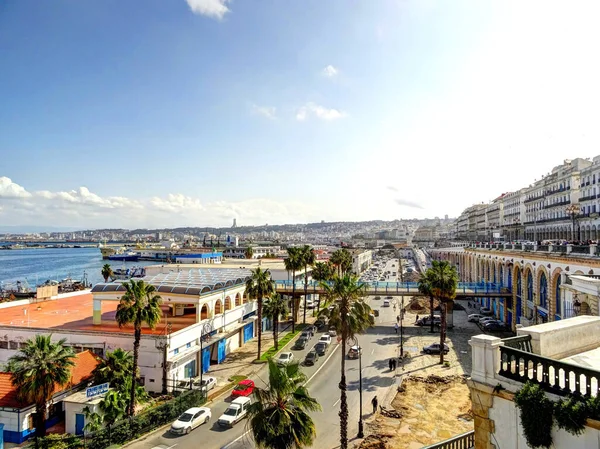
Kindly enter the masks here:
[[47, 280], [87, 279], [92, 285], [104, 282], [101, 270], [109, 263], [113, 269], [152, 265], [152, 262], [102, 260], [100, 248], [26, 248], [0, 251], [0, 282], [27, 281], [30, 287]]

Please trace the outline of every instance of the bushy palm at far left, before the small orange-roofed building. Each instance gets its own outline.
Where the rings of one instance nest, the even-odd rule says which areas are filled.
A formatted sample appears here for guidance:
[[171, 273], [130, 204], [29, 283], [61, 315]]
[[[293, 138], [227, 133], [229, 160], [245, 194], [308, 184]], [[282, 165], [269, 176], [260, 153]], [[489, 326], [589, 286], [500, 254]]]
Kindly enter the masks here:
[[53, 343], [50, 335], [36, 335], [8, 360], [11, 382], [19, 398], [35, 404], [35, 434], [46, 435], [46, 406], [57, 386], [67, 385], [75, 365], [73, 348], [63, 338]]

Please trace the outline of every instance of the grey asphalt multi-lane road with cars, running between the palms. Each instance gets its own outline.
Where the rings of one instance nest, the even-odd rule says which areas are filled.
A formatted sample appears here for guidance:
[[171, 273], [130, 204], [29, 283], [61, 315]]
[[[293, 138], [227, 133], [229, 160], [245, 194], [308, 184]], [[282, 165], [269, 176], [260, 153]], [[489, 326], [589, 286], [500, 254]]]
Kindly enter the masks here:
[[[397, 263], [397, 259], [396, 259]], [[391, 268], [391, 265], [390, 265]], [[381, 398], [382, 389], [394, 383], [394, 376], [388, 368], [388, 359], [397, 355], [398, 337], [394, 331], [395, 316], [392, 307], [380, 307], [382, 300], [369, 298], [371, 307], [379, 309], [375, 327], [360, 336], [363, 347], [362, 376], [363, 376], [363, 416], [372, 411], [371, 399], [375, 394]], [[317, 342], [320, 334], [310, 341], [310, 345], [302, 351], [292, 351], [296, 359], [303, 360], [304, 355]], [[347, 348], [348, 349], [348, 348]], [[337, 342], [332, 343], [325, 357], [321, 357], [315, 366], [303, 367], [309, 378], [308, 390], [321, 404], [323, 410], [315, 412], [313, 419], [317, 425], [317, 439], [314, 448], [334, 448], [339, 445], [339, 399], [338, 382], [340, 378], [340, 362], [342, 353]], [[346, 378], [348, 393], [348, 409], [350, 411], [348, 436], [353, 438], [358, 431], [359, 419], [359, 361], [346, 360]], [[266, 366], [253, 378], [257, 386], [266, 387], [268, 380]], [[238, 423], [231, 429], [221, 429], [217, 419], [227, 408], [229, 398], [218, 399], [212, 404], [212, 420], [209, 424], [195, 429], [189, 435], [174, 436], [170, 432], [154, 432], [147, 438], [130, 446], [131, 449], [151, 449], [156, 446], [177, 449], [196, 449], [199, 442], [207, 449], [241, 449], [253, 447], [247, 436], [247, 421]]]

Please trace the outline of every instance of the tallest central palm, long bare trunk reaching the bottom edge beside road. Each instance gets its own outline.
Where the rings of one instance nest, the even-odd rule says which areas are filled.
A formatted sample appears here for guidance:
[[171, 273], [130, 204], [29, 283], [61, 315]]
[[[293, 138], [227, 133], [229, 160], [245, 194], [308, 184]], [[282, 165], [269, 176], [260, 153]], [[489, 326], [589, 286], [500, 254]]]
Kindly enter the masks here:
[[346, 399], [346, 342], [373, 325], [371, 308], [364, 302], [365, 285], [352, 275], [335, 277], [332, 283], [321, 283], [327, 302], [319, 315], [329, 318], [329, 325], [341, 336], [340, 366], [340, 447], [348, 447], [348, 401]]

